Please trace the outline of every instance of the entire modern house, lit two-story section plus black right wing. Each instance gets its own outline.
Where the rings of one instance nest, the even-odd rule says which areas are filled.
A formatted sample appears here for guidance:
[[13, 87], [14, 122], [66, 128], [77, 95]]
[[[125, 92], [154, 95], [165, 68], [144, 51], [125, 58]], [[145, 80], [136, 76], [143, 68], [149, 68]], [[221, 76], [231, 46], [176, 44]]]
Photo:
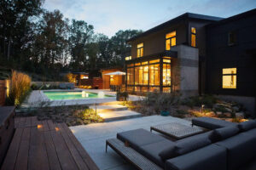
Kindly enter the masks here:
[[255, 111], [256, 9], [227, 19], [186, 13], [127, 42], [128, 91], [218, 94]]

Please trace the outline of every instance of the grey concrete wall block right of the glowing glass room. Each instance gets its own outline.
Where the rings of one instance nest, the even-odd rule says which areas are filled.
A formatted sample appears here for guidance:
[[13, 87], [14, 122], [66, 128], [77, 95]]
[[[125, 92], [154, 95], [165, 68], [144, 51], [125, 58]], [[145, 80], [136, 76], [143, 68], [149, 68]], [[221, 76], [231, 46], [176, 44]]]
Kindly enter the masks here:
[[198, 95], [198, 49], [178, 45], [173, 50], [177, 51], [177, 59], [173, 59], [172, 78], [174, 80], [172, 82], [179, 82], [176, 88], [180, 90], [183, 97]]

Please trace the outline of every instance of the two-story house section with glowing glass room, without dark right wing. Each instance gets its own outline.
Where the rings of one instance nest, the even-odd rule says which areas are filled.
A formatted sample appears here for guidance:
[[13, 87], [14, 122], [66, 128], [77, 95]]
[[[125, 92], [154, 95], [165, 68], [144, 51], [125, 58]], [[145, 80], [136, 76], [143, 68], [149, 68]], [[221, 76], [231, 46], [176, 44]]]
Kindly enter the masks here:
[[198, 94], [199, 59], [206, 55], [207, 24], [221, 20], [201, 14], [186, 13], [128, 40], [128, 91]]

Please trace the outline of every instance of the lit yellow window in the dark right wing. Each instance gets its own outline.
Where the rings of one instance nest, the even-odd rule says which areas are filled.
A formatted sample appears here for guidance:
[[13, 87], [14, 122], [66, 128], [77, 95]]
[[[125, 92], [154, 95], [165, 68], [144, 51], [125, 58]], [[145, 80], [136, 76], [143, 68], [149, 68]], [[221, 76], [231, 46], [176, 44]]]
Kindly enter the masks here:
[[222, 88], [236, 88], [236, 68], [222, 70]]

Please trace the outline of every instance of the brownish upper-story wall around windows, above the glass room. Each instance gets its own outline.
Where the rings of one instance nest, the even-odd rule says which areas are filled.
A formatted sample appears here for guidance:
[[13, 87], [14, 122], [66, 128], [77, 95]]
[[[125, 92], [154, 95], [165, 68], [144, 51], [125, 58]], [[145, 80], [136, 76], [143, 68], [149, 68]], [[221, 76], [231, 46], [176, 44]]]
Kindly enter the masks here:
[[184, 20], [179, 25], [168, 27], [162, 31], [138, 38], [136, 41], [131, 42], [131, 58], [137, 58], [137, 44], [141, 42], [143, 42], [144, 56], [166, 51], [166, 34], [171, 31], [176, 31], [177, 44], [186, 43], [187, 28], [186, 21]]

